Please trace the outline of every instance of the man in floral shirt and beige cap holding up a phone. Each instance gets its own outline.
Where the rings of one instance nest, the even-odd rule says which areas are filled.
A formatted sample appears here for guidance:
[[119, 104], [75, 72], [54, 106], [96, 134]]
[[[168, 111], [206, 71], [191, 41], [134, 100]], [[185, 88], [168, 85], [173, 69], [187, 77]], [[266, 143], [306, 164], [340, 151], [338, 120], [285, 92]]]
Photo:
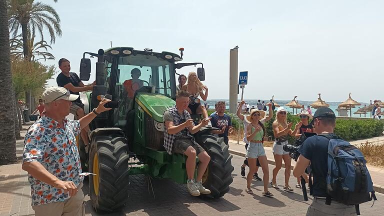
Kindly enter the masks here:
[[48, 87], [42, 93], [45, 115], [28, 129], [24, 139], [22, 169], [28, 172], [32, 208], [35, 215], [84, 215], [81, 190], [84, 177], [75, 136], [100, 112], [109, 110], [100, 101], [97, 108], [80, 118], [70, 120], [70, 94], [64, 87]]

